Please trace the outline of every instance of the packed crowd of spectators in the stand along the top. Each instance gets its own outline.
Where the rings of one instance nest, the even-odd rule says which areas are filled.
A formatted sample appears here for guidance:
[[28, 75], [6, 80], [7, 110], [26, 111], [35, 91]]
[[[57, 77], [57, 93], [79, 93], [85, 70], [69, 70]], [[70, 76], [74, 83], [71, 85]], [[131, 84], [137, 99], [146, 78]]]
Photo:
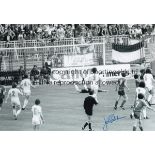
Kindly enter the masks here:
[[155, 24], [0, 24], [0, 41], [51, 39], [104, 35], [150, 35]]

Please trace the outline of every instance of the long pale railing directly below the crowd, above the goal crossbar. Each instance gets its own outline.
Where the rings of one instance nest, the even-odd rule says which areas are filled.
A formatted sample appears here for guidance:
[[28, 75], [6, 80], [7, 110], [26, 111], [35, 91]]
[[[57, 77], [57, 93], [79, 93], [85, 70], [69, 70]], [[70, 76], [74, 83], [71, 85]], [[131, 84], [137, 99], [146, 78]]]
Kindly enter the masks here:
[[[92, 38], [83, 38], [85, 43], [93, 42], [93, 43], [102, 43], [108, 40], [109, 42], [128, 44], [129, 37], [127, 35], [116, 35], [116, 36], [100, 36], [100, 37], [92, 37]], [[17, 47], [41, 47], [41, 46], [58, 46], [58, 45], [73, 45], [81, 43], [80, 38], [64, 38], [59, 40], [52, 39], [38, 39], [38, 40], [21, 40], [21, 41], [10, 41], [0, 42], [0, 48], [17, 48]]]

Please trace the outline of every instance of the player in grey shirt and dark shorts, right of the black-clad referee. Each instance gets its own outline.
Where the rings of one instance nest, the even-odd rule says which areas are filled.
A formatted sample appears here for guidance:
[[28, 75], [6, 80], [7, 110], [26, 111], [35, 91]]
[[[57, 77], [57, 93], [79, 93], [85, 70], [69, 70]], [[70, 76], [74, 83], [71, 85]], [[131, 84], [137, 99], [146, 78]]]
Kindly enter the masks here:
[[127, 99], [128, 99], [128, 97], [127, 97], [127, 95], [126, 95], [126, 93], [125, 93], [125, 88], [127, 88], [128, 90], [129, 90], [129, 88], [127, 87], [127, 84], [126, 84], [126, 79], [125, 79], [125, 77], [126, 77], [126, 74], [125, 73], [122, 73], [122, 78], [120, 78], [119, 80], [118, 80], [118, 84], [117, 84], [117, 86], [116, 86], [116, 91], [118, 90], [118, 98], [117, 98], [117, 100], [116, 100], [116, 102], [115, 102], [115, 106], [114, 106], [114, 109], [116, 110], [117, 109], [117, 105], [118, 105], [118, 102], [119, 102], [119, 100], [121, 99], [121, 97], [123, 97], [123, 102], [122, 102], [122, 104], [121, 104], [121, 108], [123, 109], [123, 110], [125, 110], [125, 108], [124, 108], [124, 104], [126, 103], [126, 101], [127, 101]]

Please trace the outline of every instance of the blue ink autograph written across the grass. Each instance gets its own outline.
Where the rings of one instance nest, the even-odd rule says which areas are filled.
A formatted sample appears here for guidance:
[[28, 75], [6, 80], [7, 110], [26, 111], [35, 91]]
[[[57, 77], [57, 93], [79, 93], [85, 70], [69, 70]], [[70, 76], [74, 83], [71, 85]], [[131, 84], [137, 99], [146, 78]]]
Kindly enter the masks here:
[[118, 115], [114, 115], [114, 114], [109, 115], [108, 117], [104, 118], [103, 130], [107, 129], [109, 123], [113, 123], [113, 122], [120, 120], [120, 119], [123, 119], [125, 117], [126, 116], [119, 117]]

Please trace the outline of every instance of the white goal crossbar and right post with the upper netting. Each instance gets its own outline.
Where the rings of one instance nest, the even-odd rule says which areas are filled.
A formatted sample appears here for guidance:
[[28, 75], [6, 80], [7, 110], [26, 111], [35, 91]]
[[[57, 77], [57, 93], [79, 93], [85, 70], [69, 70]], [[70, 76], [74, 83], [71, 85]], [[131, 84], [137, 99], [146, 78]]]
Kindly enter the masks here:
[[[50, 54], [72, 55], [75, 53], [75, 48], [80, 46], [94, 46], [95, 54], [102, 53], [103, 64], [105, 65], [105, 43], [85, 43], [71, 44], [58, 46], [40, 46], [40, 47], [16, 47], [16, 48], [0, 48], [3, 53], [3, 70], [15, 70], [19, 66], [24, 66], [25, 69], [32, 67], [34, 63], [39, 67], [42, 66], [46, 56]], [[38, 55], [38, 60], [34, 60], [34, 55]], [[99, 57], [98, 57], [99, 58]], [[5, 65], [5, 66], [4, 66]], [[10, 66], [10, 67], [9, 67]], [[29, 67], [28, 67], [29, 66]]]

